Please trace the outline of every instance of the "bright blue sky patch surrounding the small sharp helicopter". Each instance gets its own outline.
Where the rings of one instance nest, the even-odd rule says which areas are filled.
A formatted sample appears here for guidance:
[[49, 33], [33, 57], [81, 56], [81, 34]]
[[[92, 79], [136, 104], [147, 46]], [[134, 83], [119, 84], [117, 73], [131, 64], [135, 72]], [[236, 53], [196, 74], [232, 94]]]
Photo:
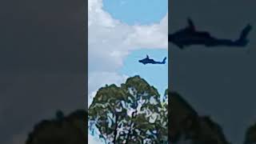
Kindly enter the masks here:
[[[167, 57], [165, 65], [143, 65], [138, 60], [146, 58], [146, 54], [155, 61], [161, 61]], [[128, 76], [140, 75], [145, 78], [150, 85], [158, 89], [159, 94], [164, 94], [168, 86], [168, 51], [158, 49], [142, 49], [133, 51], [124, 61], [124, 66], [119, 73]]]

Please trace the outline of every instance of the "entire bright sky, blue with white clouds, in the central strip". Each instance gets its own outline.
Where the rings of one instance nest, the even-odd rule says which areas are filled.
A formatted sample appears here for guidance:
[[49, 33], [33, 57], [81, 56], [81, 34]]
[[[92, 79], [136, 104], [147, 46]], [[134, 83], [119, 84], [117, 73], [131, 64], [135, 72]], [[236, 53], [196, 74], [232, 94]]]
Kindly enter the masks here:
[[[168, 65], [144, 66], [138, 60], [146, 54], [159, 61], [168, 57], [167, 1], [89, 0], [88, 4], [89, 105], [101, 86], [119, 85], [134, 74], [163, 94]], [[95, 141], [89, 135], [89, 143]]]

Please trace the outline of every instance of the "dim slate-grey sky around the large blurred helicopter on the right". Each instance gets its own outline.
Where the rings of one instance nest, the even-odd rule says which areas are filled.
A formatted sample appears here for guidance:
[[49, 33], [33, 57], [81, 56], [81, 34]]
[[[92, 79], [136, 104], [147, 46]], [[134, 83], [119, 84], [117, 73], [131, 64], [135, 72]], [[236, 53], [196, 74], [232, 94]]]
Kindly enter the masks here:
[[248, 126], [256, 122], [256, 18], [254, 1], [170, 1], [169, 31], [173, 33], [194, 21], [197, 30], [218, 38], [236, 39], [250, 23], [253, 26], [246, 49], [190, 46], [178, 50], [169, 44], [169, 86], [182, 94], [199, 114], [210, 115], [222, 126], [231, 143], [243, 142]]

